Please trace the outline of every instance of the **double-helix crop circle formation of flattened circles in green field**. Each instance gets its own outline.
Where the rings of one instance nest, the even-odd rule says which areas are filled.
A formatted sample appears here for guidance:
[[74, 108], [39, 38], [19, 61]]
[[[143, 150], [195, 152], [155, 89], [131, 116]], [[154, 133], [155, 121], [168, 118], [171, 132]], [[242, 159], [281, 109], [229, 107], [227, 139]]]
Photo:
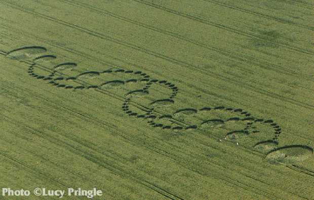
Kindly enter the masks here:
[[[115, 68], [84, 71], [75, 62], [59, 63], [57, 56], [46, 52], [45, 47], [29, 46], [7, 52], [6, 56], [27, 60], [27, 63], [31, 60], [28, 75], [58, 88], [108, 91], [123, 100], [121, 109], [126, 116], [138, 118], [139, 123], [144, 120], [154, 128], [205, 132], [220, 142], [260, 151], [270, 163], [292, 164], [313, 154], [313, 149], [304, 145], [279, 147], [282, 128], [272, 119], [256, 118], [248, 111], [226, 105], [181, 108], [165, 113], [165, 107], [175, 105], [174, 99], [179, 92], [175, 84], [153, 79], [141, 71]], [[51, 67], [43, 63], [50, 63]]]

